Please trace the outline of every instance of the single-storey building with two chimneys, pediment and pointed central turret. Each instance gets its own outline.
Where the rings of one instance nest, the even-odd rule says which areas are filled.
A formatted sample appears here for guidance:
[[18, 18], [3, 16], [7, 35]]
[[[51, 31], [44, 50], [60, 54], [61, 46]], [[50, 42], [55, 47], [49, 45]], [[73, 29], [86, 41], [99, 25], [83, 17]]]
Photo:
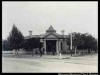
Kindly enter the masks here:
[[41, 42], [43, 42], [44, 53], [48, 54], [52, 52], [54, 49], [56, 54], [59, 52], [67, 51], [67, 35], [64, 35], [64, 30], [62, 30], [62, 34], [56, 33], [56, 30], [50, 26], [49, 29], [46, 30], [45, 34], [41, 35], [32, 35], [32, 31], [30, 32], [30, 36], [27, 36], [26, 39], [32, 37], [40, 37]]

